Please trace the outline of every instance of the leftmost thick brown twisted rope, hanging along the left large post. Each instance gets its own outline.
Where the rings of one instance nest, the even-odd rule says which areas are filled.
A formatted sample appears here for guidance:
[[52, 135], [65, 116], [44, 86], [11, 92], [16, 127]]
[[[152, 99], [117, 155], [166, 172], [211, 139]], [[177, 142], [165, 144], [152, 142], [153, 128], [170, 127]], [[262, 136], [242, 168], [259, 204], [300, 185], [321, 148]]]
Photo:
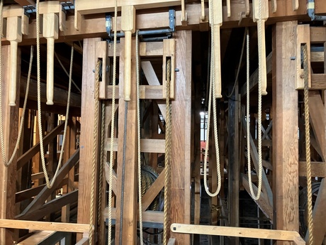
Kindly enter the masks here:
[[96, 175], [96, 156], [97, 156], [97, 136], [99, 131], [99, 77], [100, 77], [99, 60], [96, 63], [95, 70], [95, 97], [94, 97], [94, 129], [93, 129], [93, 155], [91, 159], [91, 205], [89, 214], [89, 245], [94, 244], [94, 223], [95, 223], [95, 175]]

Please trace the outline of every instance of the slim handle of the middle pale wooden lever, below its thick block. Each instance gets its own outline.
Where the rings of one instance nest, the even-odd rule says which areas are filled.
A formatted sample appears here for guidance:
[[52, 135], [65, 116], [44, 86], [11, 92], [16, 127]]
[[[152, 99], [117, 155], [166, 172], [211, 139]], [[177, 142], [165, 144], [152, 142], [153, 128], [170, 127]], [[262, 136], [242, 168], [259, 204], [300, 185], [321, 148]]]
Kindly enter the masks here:
[[124, 70], [124, 99], [130, 101], [131, 93], [131, 31], [125, 31], [125, 70]]

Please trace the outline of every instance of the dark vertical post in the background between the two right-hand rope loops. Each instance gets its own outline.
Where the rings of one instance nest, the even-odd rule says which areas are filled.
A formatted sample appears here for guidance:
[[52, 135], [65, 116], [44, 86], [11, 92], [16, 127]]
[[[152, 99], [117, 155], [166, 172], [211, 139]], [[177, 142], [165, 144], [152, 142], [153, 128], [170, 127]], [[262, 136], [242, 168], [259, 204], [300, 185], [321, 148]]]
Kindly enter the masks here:
[[[230, 88], [232, 89], [232, 88]], [[228, 190], [229, 190], [229, 222], [231, 227], [239, 227], [239, 100], [238, 85], [235, 92], [229, 99], [229, 170], [228, 170]], [[231, 237], [230, 244], [239, 244], [238, 237]]]

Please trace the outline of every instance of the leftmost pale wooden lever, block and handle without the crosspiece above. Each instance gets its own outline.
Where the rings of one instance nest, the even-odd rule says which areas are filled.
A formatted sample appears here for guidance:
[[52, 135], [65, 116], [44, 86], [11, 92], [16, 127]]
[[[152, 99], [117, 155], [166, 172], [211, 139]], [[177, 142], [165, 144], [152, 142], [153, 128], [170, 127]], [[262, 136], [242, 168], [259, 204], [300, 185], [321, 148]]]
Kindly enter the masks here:
[[7, 18], [7, 40], [10, 41], [10, 87], [9, 106], [16, 107], [17, 48], [22, 40], [21, 17]]

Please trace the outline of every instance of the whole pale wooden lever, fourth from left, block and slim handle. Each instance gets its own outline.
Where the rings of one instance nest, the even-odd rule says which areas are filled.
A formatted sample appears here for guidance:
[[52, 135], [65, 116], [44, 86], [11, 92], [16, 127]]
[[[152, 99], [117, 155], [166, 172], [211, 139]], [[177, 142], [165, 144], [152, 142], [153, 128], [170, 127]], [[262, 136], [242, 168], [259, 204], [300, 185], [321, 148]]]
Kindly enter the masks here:
[[[213, 6], [213, 16], [210, 16], [210, 28], [214, 33], [214, 46], [212, 47], [212, 55], [214, 55], [214, 67], [213, 72], [215, 72], [215, 98], [222, 98], [222, 77], [220, 69], [220, 27], [223, 23], [223, 8], [222, 1], [211, 1]], [[212, 23], [213, 19], [213, 23]]]

